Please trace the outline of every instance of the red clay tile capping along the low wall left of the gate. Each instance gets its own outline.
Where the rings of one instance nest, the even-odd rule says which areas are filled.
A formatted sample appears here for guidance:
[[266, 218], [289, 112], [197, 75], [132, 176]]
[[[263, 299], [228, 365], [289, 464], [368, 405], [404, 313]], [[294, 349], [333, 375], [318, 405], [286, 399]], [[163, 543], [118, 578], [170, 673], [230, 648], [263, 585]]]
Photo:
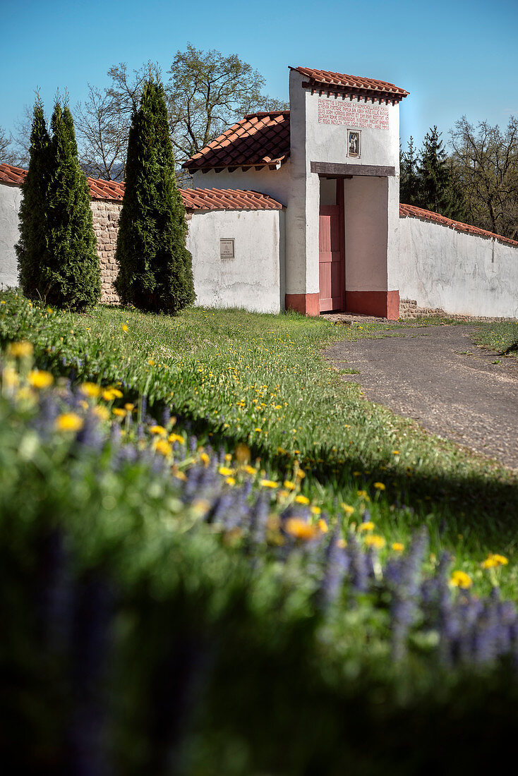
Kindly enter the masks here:
[[[14, 186], [23, 183], [27, 171], [12, 165], [0, 165], [0, 181]], [[92, 199], [120, 202], [124, 184], [88, 178]], [[189, 210], [282, 210], [283, 205], [267, 194], [240, 189], [179, 189]]]

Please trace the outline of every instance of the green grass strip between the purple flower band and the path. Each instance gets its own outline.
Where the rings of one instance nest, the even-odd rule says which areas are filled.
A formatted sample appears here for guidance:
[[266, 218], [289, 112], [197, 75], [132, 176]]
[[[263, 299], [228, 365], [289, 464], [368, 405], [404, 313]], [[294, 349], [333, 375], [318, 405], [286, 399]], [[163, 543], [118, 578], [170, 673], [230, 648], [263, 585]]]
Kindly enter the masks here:
[[[228, 452], [247, 442], [270, 478], [290, 477], [300, 462], [304, 493], [323, 510], [343, 514], [347, 504], [349, 521], [359, 521], [367, 508], [388, 542], [425, 524], [433, 552], [450, 549], [481, 587], [488, 551], [516, 560], [516, 476], [371, 404], [322, 357], [339, 339], [394, 335], [403, 324], [202, 308], [175, 318], [106, 307], [74, 315], [2, 301], [3, 343], [29, 338], [44, 368], [120, 380], [128, 398], [148, 396], [156, 417], [172, 404], [201, 442]], [[516, 563], [502, 591], [518, 591]]]

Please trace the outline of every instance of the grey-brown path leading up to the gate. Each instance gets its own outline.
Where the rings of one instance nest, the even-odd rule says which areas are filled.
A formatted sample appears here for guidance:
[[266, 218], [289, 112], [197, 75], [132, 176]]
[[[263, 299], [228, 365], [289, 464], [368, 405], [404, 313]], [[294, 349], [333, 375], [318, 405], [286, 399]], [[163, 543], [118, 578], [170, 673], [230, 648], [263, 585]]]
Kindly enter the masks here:
[[[478, 348], [475, 326], [395, 331], [325, 352], [366, 397], [429, 431], [518, 469], [518, 359]], [[492, 363], [499, 360], [499, 363]]]

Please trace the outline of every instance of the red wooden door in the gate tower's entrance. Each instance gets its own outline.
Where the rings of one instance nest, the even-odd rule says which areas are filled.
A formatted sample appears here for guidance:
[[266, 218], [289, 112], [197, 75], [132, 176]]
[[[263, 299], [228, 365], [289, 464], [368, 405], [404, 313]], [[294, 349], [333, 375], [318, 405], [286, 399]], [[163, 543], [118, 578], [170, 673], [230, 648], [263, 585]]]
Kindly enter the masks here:
[[320, 312], [343, 310], [343, 211], [341, 204], [321, 205], [318, 227]]

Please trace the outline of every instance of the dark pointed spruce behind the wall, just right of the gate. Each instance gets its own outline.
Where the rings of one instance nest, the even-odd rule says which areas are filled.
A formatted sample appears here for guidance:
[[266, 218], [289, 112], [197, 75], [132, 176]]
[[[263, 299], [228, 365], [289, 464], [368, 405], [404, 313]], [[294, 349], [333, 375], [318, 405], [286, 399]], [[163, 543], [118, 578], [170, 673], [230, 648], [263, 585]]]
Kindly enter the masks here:
[[[433, 210], [447, 218], [462, 220], [464, 203], [454, 171], [440, 140], [441, 133], [433, 126], [422, 146], [419, 158], [419, 207]], [[413, 203], [409, 203], [413, 204]]]

